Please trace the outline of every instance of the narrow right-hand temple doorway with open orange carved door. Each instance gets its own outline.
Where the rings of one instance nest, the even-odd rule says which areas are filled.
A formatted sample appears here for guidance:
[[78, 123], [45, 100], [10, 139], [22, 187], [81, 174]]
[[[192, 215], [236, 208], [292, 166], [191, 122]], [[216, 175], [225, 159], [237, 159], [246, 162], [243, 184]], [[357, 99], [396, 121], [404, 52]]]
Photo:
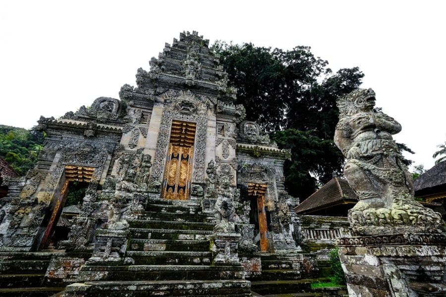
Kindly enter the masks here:
[[265, 207], [265, 194], [268, 185], [248, 183], [248, 197], [251, 201], [251, 221], [256, 226], [260, 237], [260, 251], [269, 250], [268, 214]]

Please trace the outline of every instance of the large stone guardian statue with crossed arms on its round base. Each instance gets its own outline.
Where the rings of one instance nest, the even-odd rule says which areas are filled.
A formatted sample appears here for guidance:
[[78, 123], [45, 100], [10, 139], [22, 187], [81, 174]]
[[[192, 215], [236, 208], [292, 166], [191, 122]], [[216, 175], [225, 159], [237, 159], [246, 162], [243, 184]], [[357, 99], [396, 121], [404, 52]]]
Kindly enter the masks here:
[[441, 232], [439, 213], [413, 199], [412, 177], [392, 135], [401, 125], [376, 111], [375, 92], [357, 89], [337, 100], [335, 144], [346, 158], [344, 176], [359, 202], [348, 219], [356, 235]]

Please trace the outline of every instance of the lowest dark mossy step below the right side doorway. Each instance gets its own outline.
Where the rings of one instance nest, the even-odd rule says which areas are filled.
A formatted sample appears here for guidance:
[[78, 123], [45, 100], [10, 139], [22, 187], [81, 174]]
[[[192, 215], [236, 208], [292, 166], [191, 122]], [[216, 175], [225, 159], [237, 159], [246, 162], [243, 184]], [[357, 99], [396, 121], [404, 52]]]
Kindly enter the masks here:
[[260, 295], [303, 293], [311, 291], [308, 280], [276, 280], [251, 282], [251, 290]]

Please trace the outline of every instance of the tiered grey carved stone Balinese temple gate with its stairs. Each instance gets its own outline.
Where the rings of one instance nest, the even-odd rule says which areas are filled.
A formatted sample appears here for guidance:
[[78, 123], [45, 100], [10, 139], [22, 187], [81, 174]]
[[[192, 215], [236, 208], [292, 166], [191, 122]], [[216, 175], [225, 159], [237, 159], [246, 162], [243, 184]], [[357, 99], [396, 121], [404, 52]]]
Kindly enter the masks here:
[[[138, 69], [136, 86], [122, 86], [119, 99], [42, 116], [37, 129], [47, 137], [37, 165], [3, 182], [1, 292], [311, 290], [298, 280], [318, 276], [318, 258], [302, 251], [298, 199], [283, 185], [290, 152], [244, 120], [235, 99], [209, 41], [187, 32], [152, 58], [150, 71]], [[84, 196], [73, 212], [75, 185]], [[69, 227], [66, 238], [57, 226]], [[333, 242], [334, 233], [324, 234]]]

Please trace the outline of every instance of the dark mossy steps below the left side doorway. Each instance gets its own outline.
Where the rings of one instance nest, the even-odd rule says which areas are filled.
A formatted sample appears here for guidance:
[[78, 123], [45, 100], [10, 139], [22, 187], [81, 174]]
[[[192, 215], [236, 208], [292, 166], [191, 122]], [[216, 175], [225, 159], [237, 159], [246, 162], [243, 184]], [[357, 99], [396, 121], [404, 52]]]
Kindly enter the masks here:
[[47, 297], [63, 291], [48, 284], [45, 273], [53, 252], [0, 252], [0, 296]]

